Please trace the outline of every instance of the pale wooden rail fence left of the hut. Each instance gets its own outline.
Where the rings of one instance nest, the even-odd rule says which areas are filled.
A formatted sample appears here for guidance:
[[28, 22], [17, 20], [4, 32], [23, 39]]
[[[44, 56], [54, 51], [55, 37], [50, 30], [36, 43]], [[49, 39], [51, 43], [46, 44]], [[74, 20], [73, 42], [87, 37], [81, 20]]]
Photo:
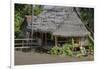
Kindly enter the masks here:
[[15, 39], [15, 48], [31, 48], [39, 46], [38, 40], [36, 39]]

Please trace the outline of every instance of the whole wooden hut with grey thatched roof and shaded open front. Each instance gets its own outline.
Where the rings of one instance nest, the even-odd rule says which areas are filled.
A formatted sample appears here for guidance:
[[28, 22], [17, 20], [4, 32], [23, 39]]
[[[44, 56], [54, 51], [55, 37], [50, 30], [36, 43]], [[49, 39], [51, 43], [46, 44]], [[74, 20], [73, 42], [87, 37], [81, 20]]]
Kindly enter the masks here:
[[40, 38], [45, 46], [49, 42], [55, 46], [67, 42], [79, 46], [88, 44], [89, 32], [73, 7], [45, 5], [42, 9], [38, 16], [25, 16], [26, 34], [30, 34], [28, 37]]

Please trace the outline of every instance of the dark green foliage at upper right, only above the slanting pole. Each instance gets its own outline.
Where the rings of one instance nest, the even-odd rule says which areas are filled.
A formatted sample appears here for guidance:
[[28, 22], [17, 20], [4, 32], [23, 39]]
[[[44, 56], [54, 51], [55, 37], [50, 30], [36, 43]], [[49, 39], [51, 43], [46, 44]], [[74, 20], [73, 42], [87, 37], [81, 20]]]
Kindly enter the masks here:
[[93, 8], [80, 8], [80, 16], [85, 23], [86, 28], [91, 32], [94, 37], [94, 9]]

